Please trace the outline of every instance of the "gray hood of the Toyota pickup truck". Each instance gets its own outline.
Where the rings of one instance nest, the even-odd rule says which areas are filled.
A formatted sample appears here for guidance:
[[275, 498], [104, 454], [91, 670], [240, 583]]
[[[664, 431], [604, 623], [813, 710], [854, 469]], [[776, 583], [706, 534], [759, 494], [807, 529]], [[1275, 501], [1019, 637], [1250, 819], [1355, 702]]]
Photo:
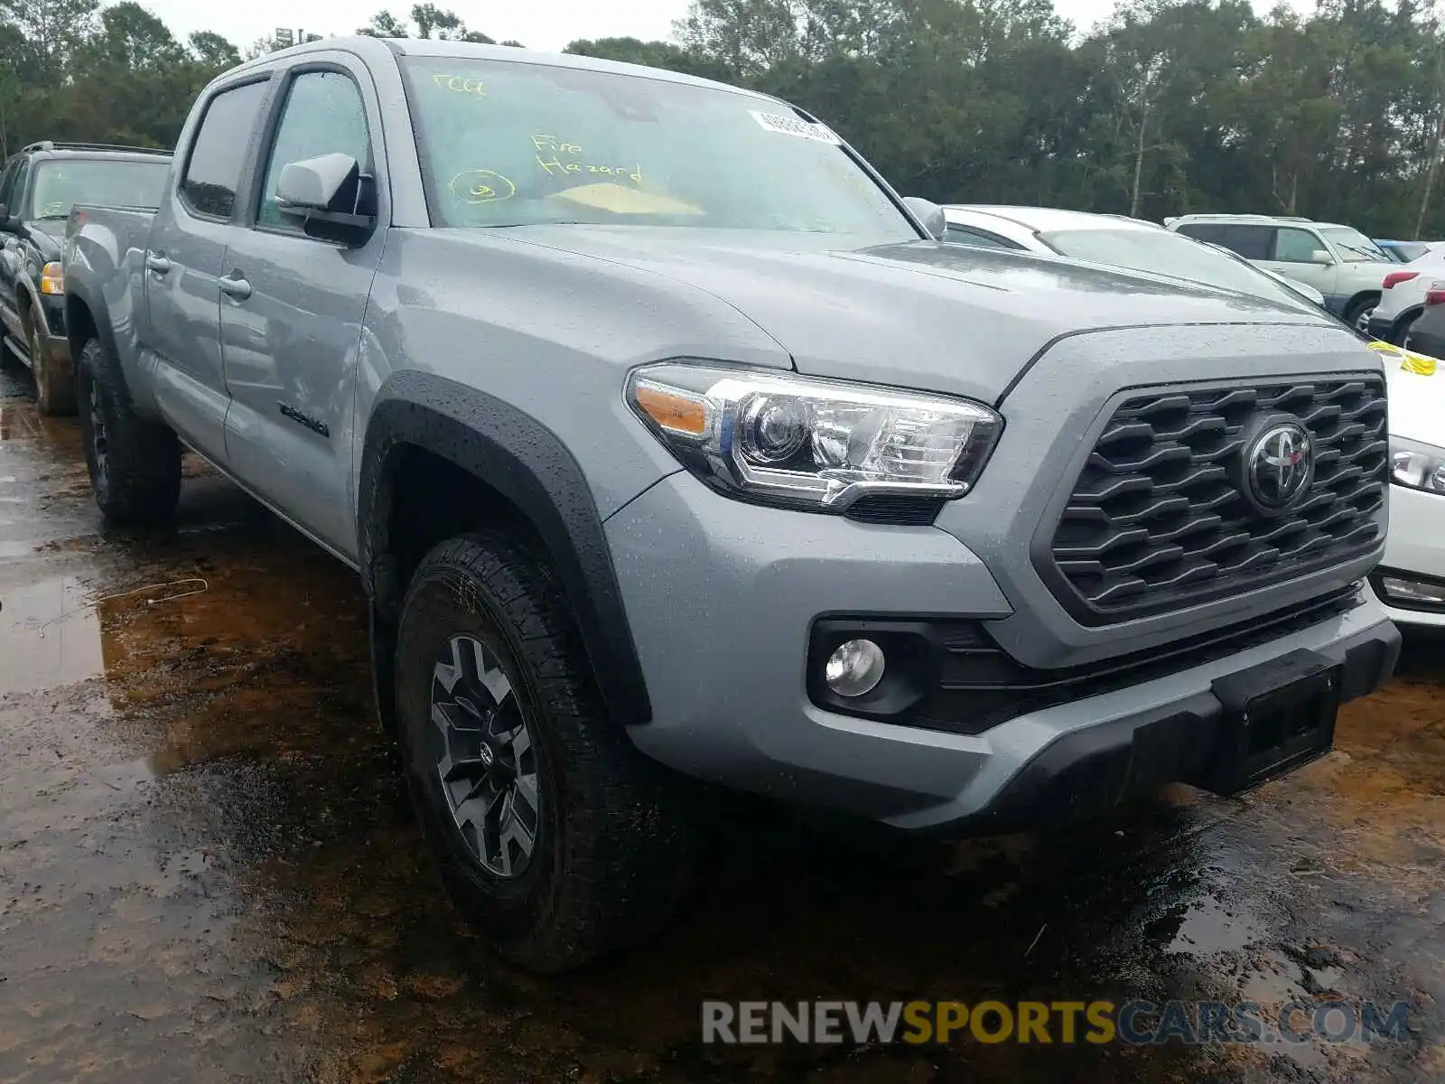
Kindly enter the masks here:
[[802, 373], [988, 402], [1059, 335], [1328, 322], [1143, 273], [922, 240], [850, 247], [825, 234], [637, 225], [530, 225], [506, 236], [705, 291], [775, 338]]

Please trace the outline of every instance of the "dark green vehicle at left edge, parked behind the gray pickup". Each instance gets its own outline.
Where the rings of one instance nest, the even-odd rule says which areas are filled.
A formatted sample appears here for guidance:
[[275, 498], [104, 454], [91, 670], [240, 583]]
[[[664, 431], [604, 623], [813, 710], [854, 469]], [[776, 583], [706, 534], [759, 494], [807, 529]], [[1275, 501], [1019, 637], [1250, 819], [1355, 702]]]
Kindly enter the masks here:
[[171, 155], [94, 143], [32, 143], [0, 172], [0, 354], [35, 374], [43, 415], [75, 409], [65, 341], [61, 240], [71, 207], [159, 207]]

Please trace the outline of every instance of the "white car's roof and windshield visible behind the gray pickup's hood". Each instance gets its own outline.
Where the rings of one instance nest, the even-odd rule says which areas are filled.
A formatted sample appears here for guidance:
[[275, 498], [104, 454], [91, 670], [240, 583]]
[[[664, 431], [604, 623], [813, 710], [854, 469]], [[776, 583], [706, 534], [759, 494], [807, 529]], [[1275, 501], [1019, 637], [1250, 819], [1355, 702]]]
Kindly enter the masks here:
[[944, 217], [945, 240], [958, 244], [1068, 256], [1290, 305], [1324, 301], [1318, 291], [1254, 267], [1228, 249], [1201, 244], [1142, 218], [1003, 204], [949, 204]]

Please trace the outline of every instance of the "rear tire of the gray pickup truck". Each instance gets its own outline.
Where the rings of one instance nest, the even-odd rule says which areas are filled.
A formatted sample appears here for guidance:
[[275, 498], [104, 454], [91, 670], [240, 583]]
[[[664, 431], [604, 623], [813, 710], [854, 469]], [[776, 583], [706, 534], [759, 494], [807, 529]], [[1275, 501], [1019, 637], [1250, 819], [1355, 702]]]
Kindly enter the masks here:
[[163, 523], [181, 499], [181, 442], [130, 406], [120, 367], [92, 338], [77, 361], [85, 465], [95, 503], [110, 523]]

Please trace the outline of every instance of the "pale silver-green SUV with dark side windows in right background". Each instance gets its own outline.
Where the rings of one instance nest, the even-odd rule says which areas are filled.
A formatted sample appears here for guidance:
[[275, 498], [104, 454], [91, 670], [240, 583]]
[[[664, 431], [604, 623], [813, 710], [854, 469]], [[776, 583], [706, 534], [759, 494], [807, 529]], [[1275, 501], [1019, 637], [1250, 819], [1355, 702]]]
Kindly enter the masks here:
[[1363, 233], [1337, 223], [1263, 214], [1186, 214], [1169, 230], [1231, 249], [1259, 267], [1306, 282], [1351, 327], [1366, 331], [1394, 260]]

